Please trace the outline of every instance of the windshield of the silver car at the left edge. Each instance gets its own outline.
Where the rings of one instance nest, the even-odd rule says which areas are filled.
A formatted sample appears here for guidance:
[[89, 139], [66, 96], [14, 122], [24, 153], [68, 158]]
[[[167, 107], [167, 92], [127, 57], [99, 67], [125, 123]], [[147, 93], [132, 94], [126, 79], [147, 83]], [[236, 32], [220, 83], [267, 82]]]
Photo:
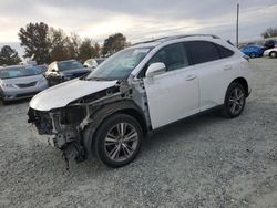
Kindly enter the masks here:
[[14, 66], [0, 70], [0, 79], [14, 79], [23, 76], [33, 76], [40, 74], [33, 66]]

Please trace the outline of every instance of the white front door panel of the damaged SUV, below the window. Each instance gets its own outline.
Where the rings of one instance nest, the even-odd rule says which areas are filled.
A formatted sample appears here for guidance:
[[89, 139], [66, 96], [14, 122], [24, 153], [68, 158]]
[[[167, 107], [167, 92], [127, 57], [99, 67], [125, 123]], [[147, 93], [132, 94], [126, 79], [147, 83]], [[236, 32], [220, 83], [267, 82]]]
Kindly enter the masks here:
[[153, 128], [199, 112], [198, 77], [194, 66], [144, 79]]

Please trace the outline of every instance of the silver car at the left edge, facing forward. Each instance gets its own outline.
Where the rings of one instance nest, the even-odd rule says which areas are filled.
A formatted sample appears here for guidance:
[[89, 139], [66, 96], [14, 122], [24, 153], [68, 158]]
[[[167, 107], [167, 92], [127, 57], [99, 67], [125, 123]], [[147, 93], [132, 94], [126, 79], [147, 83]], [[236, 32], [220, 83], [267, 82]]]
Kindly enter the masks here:
[[47, 87], [47, 80], [35, 66], [0, 67], [0, 98], [3, 103], [31, 97]]

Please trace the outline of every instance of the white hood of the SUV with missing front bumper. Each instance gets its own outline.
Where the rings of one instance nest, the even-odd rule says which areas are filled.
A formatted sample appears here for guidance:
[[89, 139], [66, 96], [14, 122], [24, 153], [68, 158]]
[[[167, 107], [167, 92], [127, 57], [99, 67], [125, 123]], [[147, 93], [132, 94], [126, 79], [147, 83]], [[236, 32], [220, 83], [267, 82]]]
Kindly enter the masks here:
[[75, 79], [58, 84], [37, 94], [31, 100], [30, 107], [38, 111], [50, 111], [53, 108], [64, 107], [72, 101], [114, 86], [116, 82], [116, 80], [85, 81]]

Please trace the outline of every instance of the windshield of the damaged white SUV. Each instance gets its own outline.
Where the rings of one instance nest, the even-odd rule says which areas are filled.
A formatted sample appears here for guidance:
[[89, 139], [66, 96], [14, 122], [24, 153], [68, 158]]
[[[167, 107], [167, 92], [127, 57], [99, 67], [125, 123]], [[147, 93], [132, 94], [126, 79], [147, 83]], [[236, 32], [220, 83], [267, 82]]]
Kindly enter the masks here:
[[126, 80], [152, 48], [125, 49], [109, 58], [86, 80]]

